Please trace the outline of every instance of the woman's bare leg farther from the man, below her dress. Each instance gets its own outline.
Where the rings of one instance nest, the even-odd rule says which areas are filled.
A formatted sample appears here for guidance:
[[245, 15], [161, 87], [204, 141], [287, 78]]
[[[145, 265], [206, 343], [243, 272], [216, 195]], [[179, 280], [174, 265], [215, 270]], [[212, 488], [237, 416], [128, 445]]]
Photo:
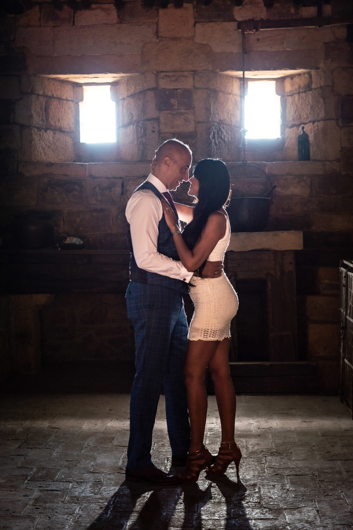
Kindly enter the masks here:
[[236, 397], [229, 368], [229, 339], [218, 342], [208, 369], [215, 386], [222, 441], [234, 440]]

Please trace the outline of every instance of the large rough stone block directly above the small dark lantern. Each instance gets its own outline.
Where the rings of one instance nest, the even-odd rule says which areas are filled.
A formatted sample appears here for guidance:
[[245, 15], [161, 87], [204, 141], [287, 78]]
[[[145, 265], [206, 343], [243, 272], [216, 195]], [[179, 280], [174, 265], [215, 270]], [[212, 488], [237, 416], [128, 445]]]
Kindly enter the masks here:
[[287, 127], [335, 117], [333, 92], [329, 86], [294, 94], [287, 98]]

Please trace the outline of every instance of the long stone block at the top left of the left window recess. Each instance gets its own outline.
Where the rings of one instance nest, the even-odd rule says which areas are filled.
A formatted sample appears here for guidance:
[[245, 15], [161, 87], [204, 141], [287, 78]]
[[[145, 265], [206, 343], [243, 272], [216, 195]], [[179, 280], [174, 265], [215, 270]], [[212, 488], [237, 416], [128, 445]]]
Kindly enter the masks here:
[[65, 100], [74, 100], [73, 85], [66, 81], [50, 79], [38, 75], [23, 75], [21, 77], [22, 92], [30, 94], [39, 94], [60, 98]]

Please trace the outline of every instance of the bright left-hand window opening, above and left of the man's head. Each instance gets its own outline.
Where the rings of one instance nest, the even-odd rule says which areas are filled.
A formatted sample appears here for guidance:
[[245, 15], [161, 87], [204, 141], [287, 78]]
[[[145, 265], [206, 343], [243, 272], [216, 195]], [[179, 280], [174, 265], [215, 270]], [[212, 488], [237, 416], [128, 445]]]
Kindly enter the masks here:
[[110, 86], [84, 86], [80, 102], [80, 142], [116, 141], [116, 111], [110, 99]]

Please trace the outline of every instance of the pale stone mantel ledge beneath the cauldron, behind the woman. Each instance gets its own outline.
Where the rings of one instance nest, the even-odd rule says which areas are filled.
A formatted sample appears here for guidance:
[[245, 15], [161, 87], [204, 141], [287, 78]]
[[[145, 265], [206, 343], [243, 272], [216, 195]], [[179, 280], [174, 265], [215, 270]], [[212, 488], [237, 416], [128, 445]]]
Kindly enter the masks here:
[[303, 232], [286, 230], [278, 232], [236, 232], [231, 234], [227, 251], [248, 250], [302, 250]]

